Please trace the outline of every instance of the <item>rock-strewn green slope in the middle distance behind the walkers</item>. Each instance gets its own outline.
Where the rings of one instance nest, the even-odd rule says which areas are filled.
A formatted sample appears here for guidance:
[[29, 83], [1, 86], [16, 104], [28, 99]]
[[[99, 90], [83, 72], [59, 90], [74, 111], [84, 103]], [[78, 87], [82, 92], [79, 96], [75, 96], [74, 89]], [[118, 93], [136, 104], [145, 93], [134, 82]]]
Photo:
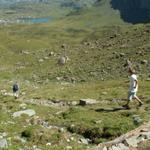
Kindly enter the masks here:
[[[36, 28], [34, 25], [2, 27], [1, 67], [10, 74], [17, 73], [30, 80], [33, 73], [40, 80], [55, 80], [56, 77], [74, 77], [77, 81], [102, 80], [126, 77], [124, 65], [127, 59], [131, 59], [141, 77], [148, 78], [149, 65], [141, 64], [141, 61], [149, 62], [150, 58], [149, 26], [118, 26], [115, 31], [113, 29], [106, 27], [91, 32], [64, 31], [49, 25], [36, 25]], [[110, 38], [114, 35], [116, 37]], [[64, 55], [61, 48], [63, 43], [67, 45], [66, 53], [70, 61], [65, 66], [59, 66], [57, 60]], [[22, 54], [22, 51], [30, 54]], [[55, 56], [48, 56], [51, 51]], [[120, 53], [124, 53], [124, 56], [120, 56]], [[48, 60], [45, 60], [47, 56]], [[40, 59], [44, 59], [44, 62], [38, 62]]]

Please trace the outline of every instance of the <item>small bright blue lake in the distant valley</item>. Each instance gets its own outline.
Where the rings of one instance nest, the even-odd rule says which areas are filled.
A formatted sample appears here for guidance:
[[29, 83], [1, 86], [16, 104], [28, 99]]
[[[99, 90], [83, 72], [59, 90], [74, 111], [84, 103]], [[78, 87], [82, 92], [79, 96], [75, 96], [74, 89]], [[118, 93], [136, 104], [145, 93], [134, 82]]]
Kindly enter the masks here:
[[43, 17], [43, 18], [30, 18], [30, 17], [26, 17], [26, 18], [19, 18], [17, 20], [18, 23], [27, 23], [27, 24], [35, 24], [35, 23], [47, 23], [52, 21], [53, 18], [52, 17]]

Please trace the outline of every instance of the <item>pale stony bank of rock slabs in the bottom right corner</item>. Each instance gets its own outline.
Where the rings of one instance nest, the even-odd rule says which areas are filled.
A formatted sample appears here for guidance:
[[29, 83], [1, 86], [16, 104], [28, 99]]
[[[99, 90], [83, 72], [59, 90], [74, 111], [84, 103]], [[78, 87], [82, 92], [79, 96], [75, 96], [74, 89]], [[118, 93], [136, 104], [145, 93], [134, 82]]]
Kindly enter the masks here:
[[91, 150], [138, 150], [138, 145], [150, 140], [150, 122], [145, 123], [117, 139], [101, 143]]

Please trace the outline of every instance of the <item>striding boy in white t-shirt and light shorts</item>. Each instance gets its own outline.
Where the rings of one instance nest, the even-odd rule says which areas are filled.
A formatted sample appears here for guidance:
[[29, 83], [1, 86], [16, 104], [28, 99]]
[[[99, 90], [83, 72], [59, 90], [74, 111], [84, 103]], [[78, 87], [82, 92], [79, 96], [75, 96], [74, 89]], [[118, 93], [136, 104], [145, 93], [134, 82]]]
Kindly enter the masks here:
[[128, 72], [130, 74], [130, 88], [128, 92], [128, 101], [124, 107], [129, 108], [129, 103], [132, 101], [132, 99], [136, 99], [139, 102], [139, 106], [141, 106], [143, 102], [136, 95], [138, 91], [137, 75], [135, 74], [135, 70], [131, 68], [129, 68]]

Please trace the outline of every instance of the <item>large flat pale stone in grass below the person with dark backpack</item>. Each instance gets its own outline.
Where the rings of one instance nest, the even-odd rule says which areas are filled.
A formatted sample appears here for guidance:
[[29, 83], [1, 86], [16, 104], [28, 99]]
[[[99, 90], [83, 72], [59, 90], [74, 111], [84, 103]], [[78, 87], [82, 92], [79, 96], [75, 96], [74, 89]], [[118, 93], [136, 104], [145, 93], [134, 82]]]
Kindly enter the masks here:
[[13, 117], [20, 117], [22, 114], [26, 114], [29, 117], [34, 116], [36, 112], [33, 109], [27, 109], [27, 110], [22, 110], [22, 111], [17, 111], [13, 113]]

